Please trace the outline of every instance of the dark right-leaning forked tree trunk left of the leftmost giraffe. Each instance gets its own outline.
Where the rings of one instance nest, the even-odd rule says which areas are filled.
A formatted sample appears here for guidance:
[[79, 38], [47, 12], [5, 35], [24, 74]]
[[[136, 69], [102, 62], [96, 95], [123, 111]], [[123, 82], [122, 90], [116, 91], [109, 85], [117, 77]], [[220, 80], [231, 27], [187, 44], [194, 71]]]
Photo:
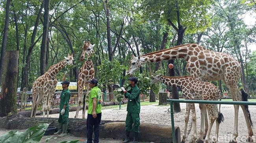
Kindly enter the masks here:
[[21, 83], [21, 86], [20, 86], [21, 87], [20, 90], [22, 90], [24, 87], [28, 87], [28, 67], [30, 66], [30, 58], [31, 58], [32, 51], [33, 51], [33, 48], [34, 48], [35, 44], [42, 37], [42, 36], [40, 36], [37, 39], [37, 41], [35, 42], [35, 36], [36, 36], [36, 33], [37, 33], [37, 27], [38, 27], [38, 24], [39, 24], [39, 19], [40, 19], [40, 15], [41, 15], [43, 6], [44, 6], [44, 3], [42, 2], [41, 6], [40, 6], [40, 9], [39, 9], [39, 12], [37, 14], [37, 18], [35, 20], [35, 25], [34, 25], [34, 29], [33, 29], [33, 33], [32, 33], [32, 38], [31, 38], [31, 44], [30, 44], [30, 47], [28, 49], [28, 55], [26, 57], [26, 64], [24, 66], [24, 73], [23, 73], [23, 76], [22, 76], [22, 83]]

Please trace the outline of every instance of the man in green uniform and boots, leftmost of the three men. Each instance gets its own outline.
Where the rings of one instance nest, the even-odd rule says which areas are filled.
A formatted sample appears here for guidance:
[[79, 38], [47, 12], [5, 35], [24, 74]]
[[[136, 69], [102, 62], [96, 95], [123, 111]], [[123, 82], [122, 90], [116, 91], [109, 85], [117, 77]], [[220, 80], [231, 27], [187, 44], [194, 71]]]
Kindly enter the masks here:
[[69, 99], [70, 99], [70, 92], [69, 92], [69, 81], [63, 81], [62, 83], [62, 92], [60, 95], [60, 103], [59, 103], [59, 130], [54, 134], [61, 133], [58, 137], [63, 137], [67, 135], [67, 128], [69, 122]]

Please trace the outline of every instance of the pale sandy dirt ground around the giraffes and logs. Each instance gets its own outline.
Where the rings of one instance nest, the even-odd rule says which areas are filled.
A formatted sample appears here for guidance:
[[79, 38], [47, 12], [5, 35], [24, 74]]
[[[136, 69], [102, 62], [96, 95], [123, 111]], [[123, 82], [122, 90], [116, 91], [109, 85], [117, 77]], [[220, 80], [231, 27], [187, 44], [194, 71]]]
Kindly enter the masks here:
[[[175, 126], [180, 127], [181, 136], [184, 130], [184, 116], [186, 112], [186, 104], [180, 103], [181, 112], [174, 114], [174, 124]], [[169, 106], [158, 106], [158, 105], [147, 105], [141, 106], [141, 123], [154, 123], [160, 125], [171, 125], [171, 114], [167, 111]], [[249, 106], [249, 110], [251, 112], [252, 122], [255, 123], [256, 121], [256, 106]], [[112, 108], [112, 109], [104, 109], [102, 110], [102, 120], [123, 120], [125, 121], [126, 118], [126, 107], [121, 108]], [[221, 105], [221, 113], [224, 116], [224, 122], [221, 123], [219, 128], [219, 141], [218, 143], [228, 143], [232, 137], [233, 130], [234, 130], [234, 106], [233, 105]], [[74, 117], [76, 112], [69, 112], [69, 117]], [[200, 132], [200, 110], [198, 104], [196, 104], [196, 114], [197, 114], [197, 137], [199, 136]], [[190, 113], [191, 115], [191, 113]], [[52, 114], [49, 115], [50, 117], [58, 117], [59, 114]], [[40, 116], [38, 116], [40, 117]], [[80, 111], [80, 118], [82, 118], [82, 112]], [[192, 119], [191, 116], [189, 118], [188, 129], [187, 129], [187, 139], [186, 143], [189, 143], [193, 129], [192, 127]], [[256, 129], [252, 128], [254, 134], [256, 133]], [[7, 130], [0, 129], [0, 135], [7, 132]], [[167, 133], [169, 134], [169, 133]], [[215, 123], [211, 129], [211, 137], [215, 134]], [[247, 126], [245, 123], [245, 118], [243, 116], [243, 112], [241, 108], [239, 108], [239, 116], [238, 116], [238, 137], [237, 142], [244, 143], [245, 137], [247, 136]], [[41, 142], [44, 143], [47, 138], [51, 136], [44, 136], [41, 139]], [[49, 140], [50, 142], [58, 142], [58, 141], [65, 141], [65, 140], [74, 140], [74, 139], [81, 139], [81, 141], [86, 141], [86, 138], [78, 138], [74, 136], [66, 136], [63, 138], [56, 138], [56, 136], [52, 136]], [[255, 137], [253, 136], [255, 141]], [[113, 139], [100, 139], [101, 143], [121, 143], [121, 140], [113, 140]]]

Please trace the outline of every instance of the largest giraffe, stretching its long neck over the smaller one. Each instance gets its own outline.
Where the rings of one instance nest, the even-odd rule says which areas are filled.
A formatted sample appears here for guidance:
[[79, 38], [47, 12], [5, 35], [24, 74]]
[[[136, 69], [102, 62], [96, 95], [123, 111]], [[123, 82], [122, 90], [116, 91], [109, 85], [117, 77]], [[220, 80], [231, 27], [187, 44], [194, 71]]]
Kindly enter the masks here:
[[[233, 101], [247, 101], [247, 94], [239, 91], [237, 88], [241, 74], [240, 63], [227, 53], [211, 51], [198, 44], [184, 44], [138, 57], [133, 56], [133, 59], [130, 61], [128, 75], [132, 76], [132, 73], [138, 70], [142, 64], [178, 58], [187, 61], [186, 70], [193, 78], [200, 81], [202, 79], [209, 81], [222, 80], [229, 88]], [[247, 105], [240, 106], [243, 110], [247, 125], [247, 141], [252, 142], [253, 132], [250, 112]], [[239, 105], [234, 105], [234, 109], [234, 131], [230, 143], [236, 143], [238, 136], [237, 124]]]

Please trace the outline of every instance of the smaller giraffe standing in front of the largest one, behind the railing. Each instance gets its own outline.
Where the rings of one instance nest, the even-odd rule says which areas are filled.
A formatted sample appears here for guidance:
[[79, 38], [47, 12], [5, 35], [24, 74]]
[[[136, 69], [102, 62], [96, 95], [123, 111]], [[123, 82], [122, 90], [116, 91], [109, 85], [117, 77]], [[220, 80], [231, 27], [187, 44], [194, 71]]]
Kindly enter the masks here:
[[[198, 81], [196, 79], [193, 79], [193, 77], [190, 76], [184, 76], [184, 77], [166, 77], [163, 75], [156, 75], [151, 78], [151, 83], [158, 83], [162, 82], [165, 85], [169, 86], [180, 86], [182, 88], [182, 94], [184, 95], [185, 99], [187, 100], [218, 100], [221, 99], [221, 91], [219, 88], [217, 88], [214, 84]], [[218, 139], [218, 132], [219, 132], [219, 124], [224, 121], [224, 117], [221, 114], [221, 110], [217, 108], [217, 105], [212, 104], [206, 104], [205, 105], [208, 111], [208, 116], [210, 119], [210, 125], [206, 134], [206, 138], [204, 140], [205, 143], [208, 143], [208, 139], [210, 137], [211, 133], [211, 127], [216, 120], [216, 130], [215, 130], [215, 141]], [[187, 123], [189, 121], [189, 112], [190, 109], [192, 111], [192, 119], [193, 119], [193, 129], [194, 134], [192, 138], [192, 142], [195, 142], [195, 139], [197, 137], [197, 123], [196, 123], [196, 113], [195, 113], [195, 104], [190, 103], [186, 105], [186, 116], [185, 116], [185, 126], [184, 126], [184, 134], [182, 136], [182, 142], [185, 142], [186, 134], [187, 134]], [[201, 109], [200, 109], [201, 110]], [[201, 113], [203, 111], [201, 110]], [[202, 115], [202, 114], [201, 114]], [[201, 118], [202, 120], [202, 118]], [[199, 139], [197, 142], [203, 142], [203, 139]]]

